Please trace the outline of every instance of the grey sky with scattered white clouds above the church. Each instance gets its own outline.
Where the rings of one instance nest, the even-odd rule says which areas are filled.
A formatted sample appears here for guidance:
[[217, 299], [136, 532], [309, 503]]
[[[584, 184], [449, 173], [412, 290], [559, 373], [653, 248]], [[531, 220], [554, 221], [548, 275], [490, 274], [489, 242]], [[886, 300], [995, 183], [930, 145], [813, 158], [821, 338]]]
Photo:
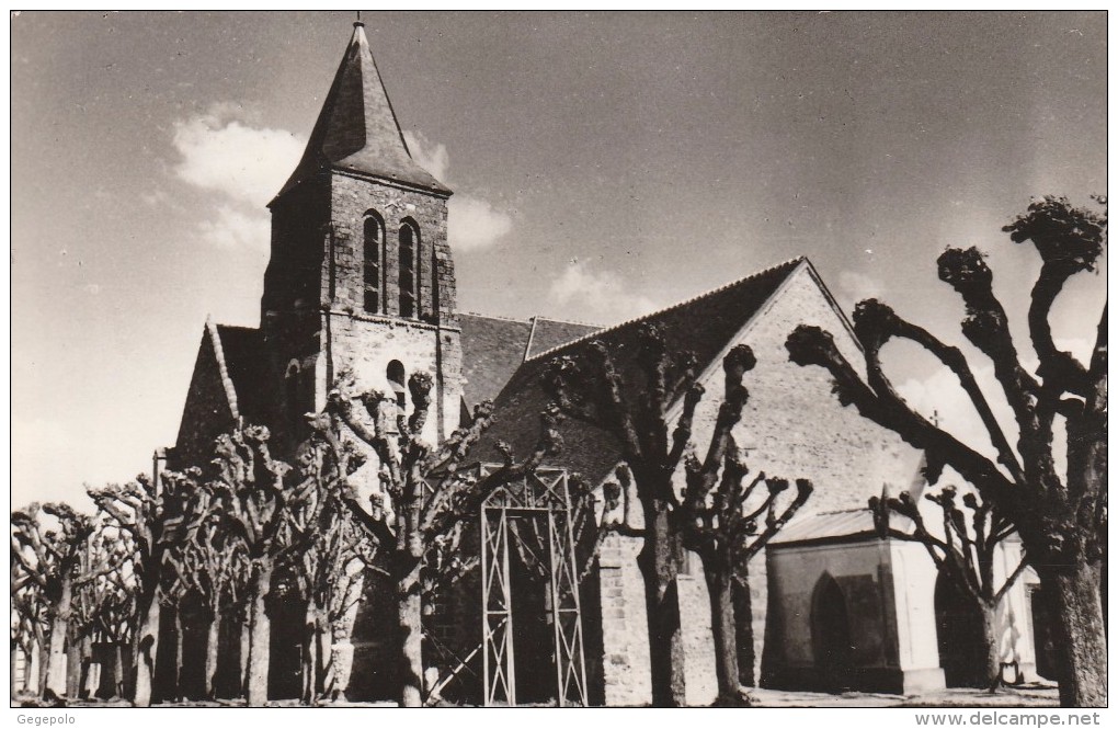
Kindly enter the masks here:
[[[958, 343], [938, 254], [987, 252], [1021, 322], [1040, 264], [999, 228], [1035, 196], [1106, 193], [1102, 12], [362, 18], [413, 153], [455, 190], [464, 311], [612, 324], [806, 255], [847, 312], [880, 297]], [[15, 505], [148, 471], [207, 316], [257, 325], [265, 205], [352, 20], [12, 15]], [[1102, 276], [1053, 312], [1080, 354]], [[953, 410], [949, 378], [890, 348], [906, 396]]]

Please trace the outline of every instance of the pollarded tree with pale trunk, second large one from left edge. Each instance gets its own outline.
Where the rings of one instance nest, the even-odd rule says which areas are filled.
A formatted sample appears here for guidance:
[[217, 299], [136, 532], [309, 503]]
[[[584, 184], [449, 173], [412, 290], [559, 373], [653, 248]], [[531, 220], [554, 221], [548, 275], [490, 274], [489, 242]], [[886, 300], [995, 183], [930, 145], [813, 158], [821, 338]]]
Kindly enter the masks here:
[[159, 483], [145, 475], [125, 485], [89, 489], [87, 493], [108, 526], [127, 533], [132, 549], [130, 579], [134, 580], [135, 621], [132, 631], [135, 681], [132, 702], [151, 706], [159, 617], [162, 609], [165, 558], [178, 538], [198, 473], [165, 472]]

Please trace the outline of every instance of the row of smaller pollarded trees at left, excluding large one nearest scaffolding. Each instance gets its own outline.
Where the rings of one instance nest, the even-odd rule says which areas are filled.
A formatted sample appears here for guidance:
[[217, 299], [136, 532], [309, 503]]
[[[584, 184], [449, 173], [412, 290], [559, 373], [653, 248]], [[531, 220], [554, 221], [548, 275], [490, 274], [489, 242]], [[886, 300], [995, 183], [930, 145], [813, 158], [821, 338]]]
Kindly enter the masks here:
[[[103, 698], [127, 697], [136, 706], [149, 706], [153, 692], [181, 698], [184, 622], [192, 619], [205, 636], [205, 659], [197, 666], [202, 685], [191, 698], [212, 699], [219, 657], [236, 661], [236, 652], [219, 651], [226, 625], [243, 633], [234, 693], [263, 703], [266, 603], [277, 586], [316, 608], [309, 609], [306, 653], [338, 653], [329, 638], [344, 641], [361, 567], [376, 546], [342, 504], [338, 485], [313, 470], [316, 445], [307, 444], [303, 467], [292, 468], [271, 457], [267, 441], [263, 428], [244, 428], [218, 441], [205, 475], [165, 472], [158, 483], [139, 477], [91, 490], [94, 517], [60, 504], [13, 513], [13, 651], [18, 645], [26, 656], [38, 655], [44, 675], [13, 683], [13, 695], [34, 687], [48, 699], [83, 698], [89, 670], [107, 663], [112, 680], [93, 689]], [[173, 631], [161, 629], [169, 623]], [[115, 654], [107, 661], [105, 648]], [[172, 656], [165, 662], [172, 670], [160, 676], [159, 691], [162, 656]], [[307, 700], [344, 684], [342, 661], [315, 668], [309, 675], [318, 690], [312, 687]]]

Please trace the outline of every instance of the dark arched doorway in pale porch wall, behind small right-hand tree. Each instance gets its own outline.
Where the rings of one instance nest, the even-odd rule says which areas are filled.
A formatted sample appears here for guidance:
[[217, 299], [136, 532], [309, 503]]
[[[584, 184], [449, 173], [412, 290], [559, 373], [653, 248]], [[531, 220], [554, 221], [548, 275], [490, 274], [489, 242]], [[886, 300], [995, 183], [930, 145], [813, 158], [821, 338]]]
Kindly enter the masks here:
[[948, 688], [988, 685], [982, 612], [974, 598], [942, 572], [936, 578], [936, 638]]

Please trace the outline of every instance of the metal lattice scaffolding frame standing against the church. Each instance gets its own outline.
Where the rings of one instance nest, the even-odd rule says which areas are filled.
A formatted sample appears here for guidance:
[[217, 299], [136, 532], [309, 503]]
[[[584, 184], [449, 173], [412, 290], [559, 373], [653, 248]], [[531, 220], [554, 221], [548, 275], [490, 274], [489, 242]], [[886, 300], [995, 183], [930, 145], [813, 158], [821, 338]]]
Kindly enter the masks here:
[[[501, 466], [483, 464], [485, 477]], [[509, 571], [509, 520], [546, 519], [548, 585], [555, 627], [556, 703], [587, 704], [586, 656], [578, 596], [578, 568], [570, 523], [567, 472], [539, 468], [523, 480], [494, 491], [481, 509], [482, 645], [485, 706], [517, 703], [517, 663], [513, 651], [512, 583]]]

